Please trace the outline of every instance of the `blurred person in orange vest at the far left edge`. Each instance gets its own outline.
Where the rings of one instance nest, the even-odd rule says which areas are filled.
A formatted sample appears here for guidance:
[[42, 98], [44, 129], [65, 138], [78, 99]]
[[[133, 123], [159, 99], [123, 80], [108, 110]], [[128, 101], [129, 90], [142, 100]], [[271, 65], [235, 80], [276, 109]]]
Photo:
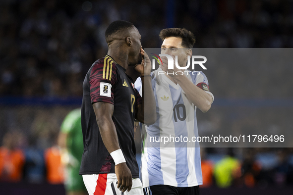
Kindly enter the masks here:
[[0, 181], [19, 182], [22, 179], [25, 157], [16, 148], [16, 133], [6, 133], [0, 147]]

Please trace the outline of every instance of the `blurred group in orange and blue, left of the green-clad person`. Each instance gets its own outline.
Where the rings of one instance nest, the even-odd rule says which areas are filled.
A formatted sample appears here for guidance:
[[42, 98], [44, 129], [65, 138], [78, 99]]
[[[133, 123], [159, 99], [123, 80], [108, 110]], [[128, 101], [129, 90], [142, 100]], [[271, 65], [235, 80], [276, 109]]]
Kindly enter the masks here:
[[40, 149], [29, 143], [21, 149], [22, 135], [8, 132], [4, 135], [0, 147], [0, 181], [31, 184], [63, 184], [65, 165], [57, 143]]

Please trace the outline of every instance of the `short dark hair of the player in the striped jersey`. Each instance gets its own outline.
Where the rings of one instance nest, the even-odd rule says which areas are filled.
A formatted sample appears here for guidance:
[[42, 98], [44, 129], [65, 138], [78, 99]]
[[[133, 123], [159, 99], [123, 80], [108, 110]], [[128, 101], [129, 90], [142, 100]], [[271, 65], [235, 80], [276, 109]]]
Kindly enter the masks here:
[[192, 48], [195, 44], [195, 36], [192, 32], [186, 30], [185, 28], [166, 28], [161, 30], [159, 36], [162, 41], [169, 37], [182, 38], [181, 45], [186, 48]]

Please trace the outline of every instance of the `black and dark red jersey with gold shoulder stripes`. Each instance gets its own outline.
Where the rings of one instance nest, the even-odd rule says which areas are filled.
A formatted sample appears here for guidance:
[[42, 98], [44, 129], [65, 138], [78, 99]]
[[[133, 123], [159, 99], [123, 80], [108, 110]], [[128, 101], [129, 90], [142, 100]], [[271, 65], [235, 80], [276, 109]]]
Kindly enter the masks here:
[[125, 69], [109, 55], [98, 59], [83, 82], [81, 125], [83, 154], [80, 175], [115, 173], [115, 163], [103, 143], [92, 104], [103, 101], [114, 104], [112, 120], [120, 148], [133, 178], [139, 177], [135, 158], [134, 116], [142, 98]]

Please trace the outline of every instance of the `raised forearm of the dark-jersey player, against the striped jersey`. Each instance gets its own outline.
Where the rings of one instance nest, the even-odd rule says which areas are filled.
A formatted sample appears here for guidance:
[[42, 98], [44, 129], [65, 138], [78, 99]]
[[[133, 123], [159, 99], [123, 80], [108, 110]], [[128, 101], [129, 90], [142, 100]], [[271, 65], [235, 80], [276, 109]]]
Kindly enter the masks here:
[[[150, 76], [141, 77], [142, 84], [142, 106], [139, 110], [139, 118], [144, 124], [151, 125], [156, 122], [156, 101], [152, 89]], [[141, 122], [141, 121], [140, 121]]]

